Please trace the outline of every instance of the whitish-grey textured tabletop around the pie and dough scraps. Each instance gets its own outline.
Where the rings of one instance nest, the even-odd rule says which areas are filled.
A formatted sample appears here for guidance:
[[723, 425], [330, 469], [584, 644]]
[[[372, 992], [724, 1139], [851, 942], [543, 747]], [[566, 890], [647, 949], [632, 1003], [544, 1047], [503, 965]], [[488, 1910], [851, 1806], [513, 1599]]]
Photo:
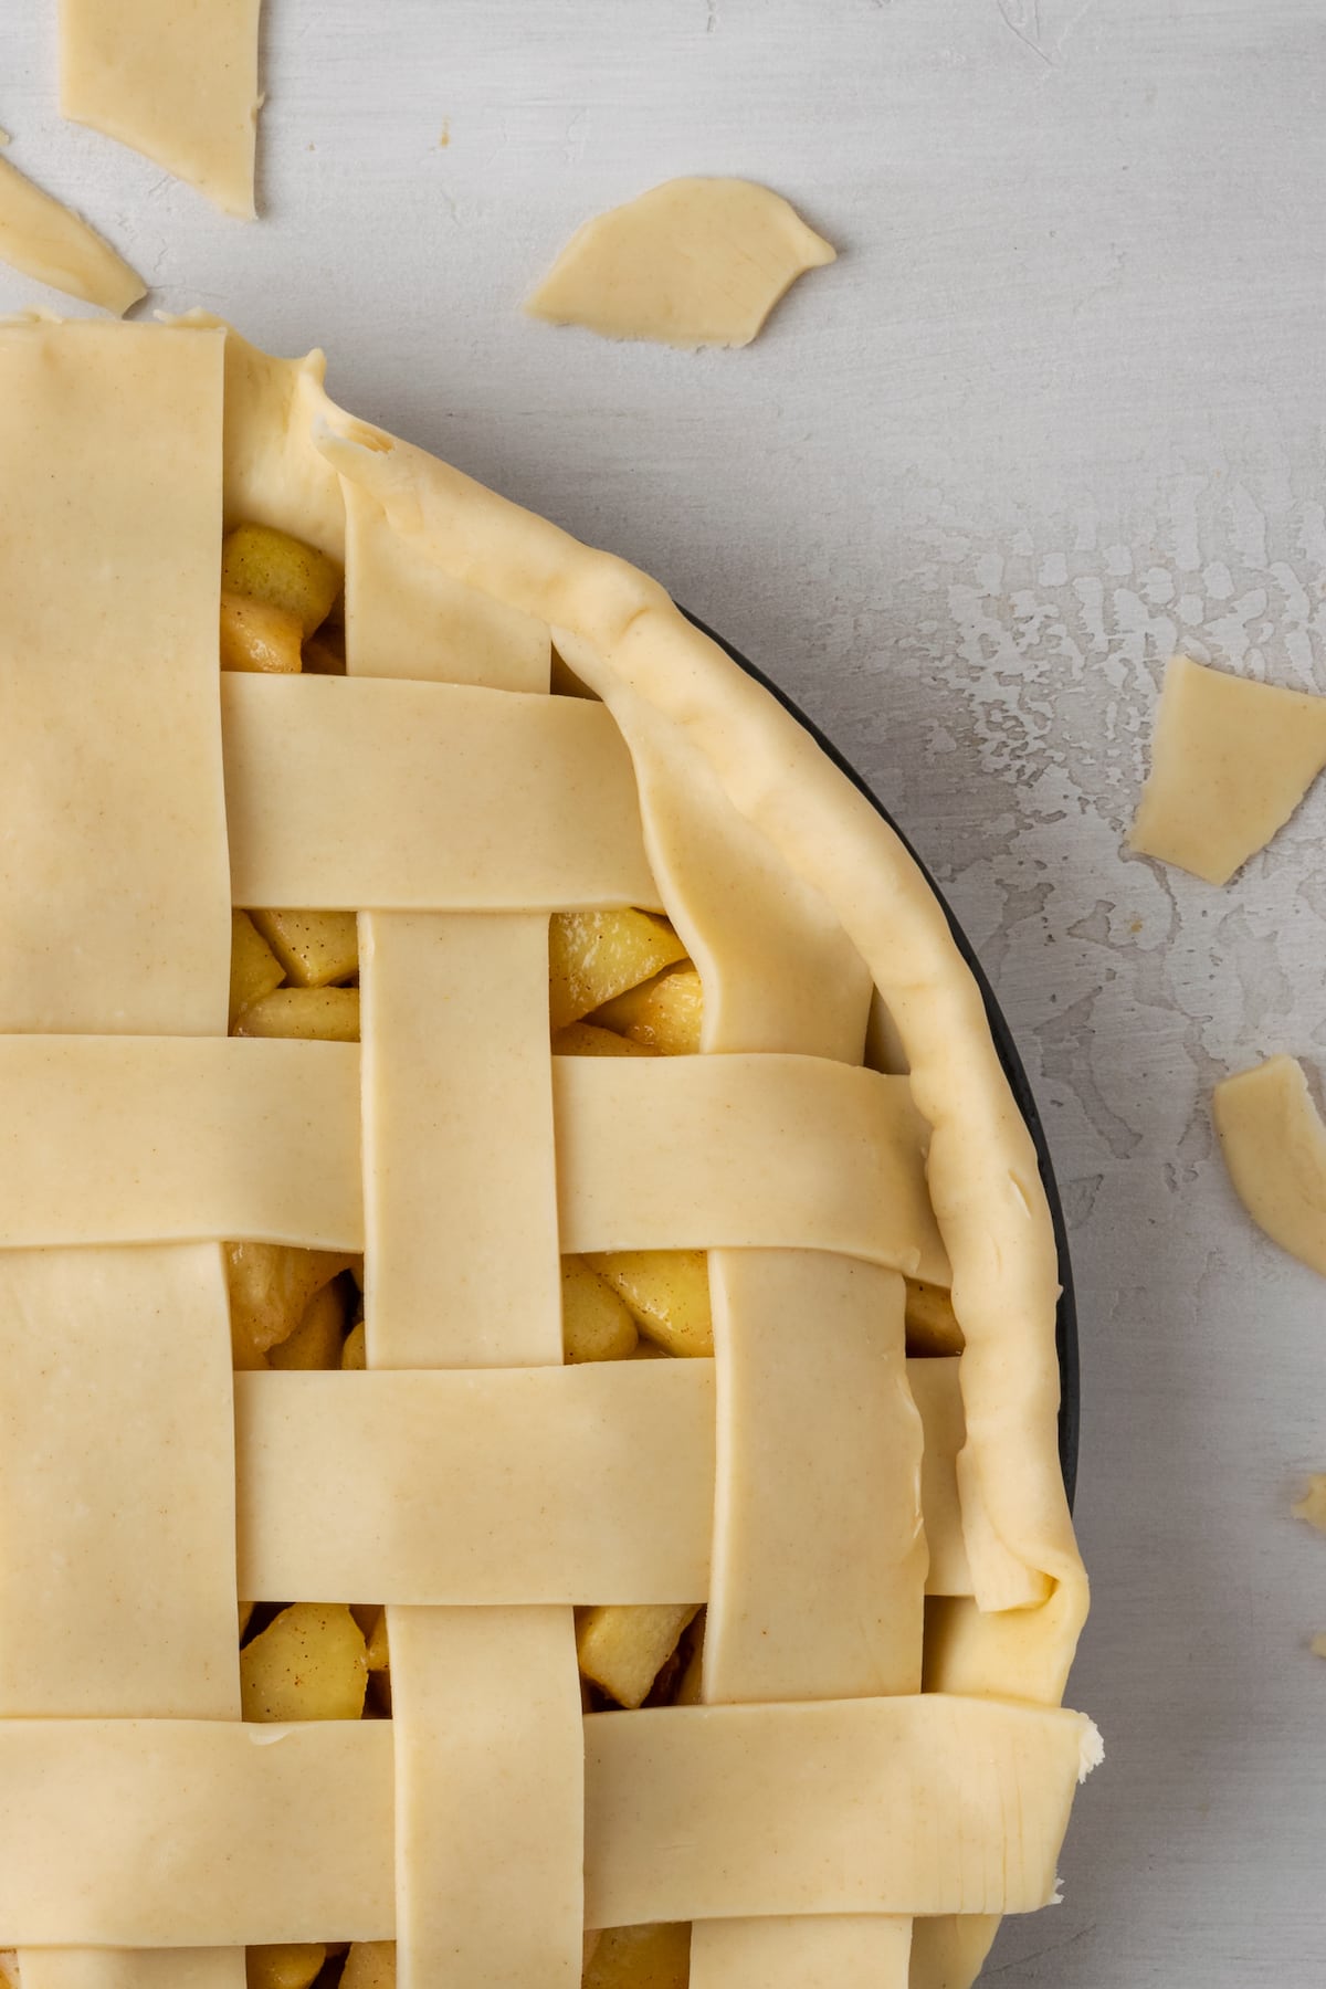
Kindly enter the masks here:
[[[664, 577], [877, 782], [982, 949], [1074, 1225], [1074, 1703], [1109, 1760], [1066, 1903], [988, 1979], [1326, 1979], [1324, 1293], [1254, 1235], [1213, 1080], [1326, 1062], [1326, 792], [1225, 891], [1119, 851], [1165, 656], [1326, 690], [1320, 0], [268, 0], [262, 207], [54, 111], [10, 157], [153, 280], [332, 350], [360, 412]], [[443, 131], [449, 143], [441, 145]], [[841, 249], [746, 354], [517, 316], [678, 171]], [[32, 300], [0, 272], [0, 308]]]

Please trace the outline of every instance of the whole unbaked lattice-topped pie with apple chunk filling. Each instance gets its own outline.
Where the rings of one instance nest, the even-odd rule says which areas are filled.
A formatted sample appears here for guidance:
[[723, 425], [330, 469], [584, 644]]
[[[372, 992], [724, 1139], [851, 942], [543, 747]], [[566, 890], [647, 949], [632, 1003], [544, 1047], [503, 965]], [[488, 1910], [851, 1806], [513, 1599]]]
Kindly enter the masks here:
[[2, 1967], [968, 1983], [1097, 1740], [911, 857], [320, 354], [12, 326], [0, 438]]

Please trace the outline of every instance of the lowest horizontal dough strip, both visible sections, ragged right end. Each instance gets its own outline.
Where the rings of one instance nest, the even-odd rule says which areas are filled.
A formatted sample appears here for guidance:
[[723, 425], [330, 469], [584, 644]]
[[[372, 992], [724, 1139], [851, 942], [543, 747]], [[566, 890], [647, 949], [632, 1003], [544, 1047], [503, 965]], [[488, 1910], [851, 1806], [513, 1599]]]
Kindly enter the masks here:
[[[1079, 1713], [976, 1699], [582, 1724], [586, 1925], [1030, 1911], [1097, 1758]], [[0, 1720], [0, 1921], [38, 1947], [390, 1939], [392, 1750], [390, 1720]]]

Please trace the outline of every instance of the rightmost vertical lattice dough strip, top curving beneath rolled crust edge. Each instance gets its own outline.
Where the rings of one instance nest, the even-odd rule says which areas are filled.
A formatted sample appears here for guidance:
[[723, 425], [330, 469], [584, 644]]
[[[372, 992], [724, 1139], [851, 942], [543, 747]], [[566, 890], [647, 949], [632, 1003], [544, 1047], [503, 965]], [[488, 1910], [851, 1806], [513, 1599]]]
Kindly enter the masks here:
[[[626, 708], [646, 847], [702, 967], [712, 1062], [759, 1050], [859, 1064], [871, 983], [831, 909], [789, 877], [678, 726], [630, 696]], [[702, 1697], [914, 1689], [924, 1545], [903, 1279], [829, 1251], [716, 1249], [710, 1285], [718, 1476]], [[909, 1923], [883, 1915], [853, 1919], [851, 1937], [841, 1919], [710, 1919], [692, 1927], [690, 1981], [905, 1989], [909, 1945]]]

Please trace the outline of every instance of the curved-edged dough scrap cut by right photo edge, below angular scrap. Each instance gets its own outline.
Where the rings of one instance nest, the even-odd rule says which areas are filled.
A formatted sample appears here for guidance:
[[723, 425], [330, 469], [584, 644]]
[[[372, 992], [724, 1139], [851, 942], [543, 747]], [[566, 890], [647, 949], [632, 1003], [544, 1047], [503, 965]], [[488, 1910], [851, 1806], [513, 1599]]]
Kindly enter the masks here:
[[1326, 1277], [1326, 1126], [1292, 1056], [1215, 1088], [1215, 1130], [1239, 1199], [1290, 1257]]

